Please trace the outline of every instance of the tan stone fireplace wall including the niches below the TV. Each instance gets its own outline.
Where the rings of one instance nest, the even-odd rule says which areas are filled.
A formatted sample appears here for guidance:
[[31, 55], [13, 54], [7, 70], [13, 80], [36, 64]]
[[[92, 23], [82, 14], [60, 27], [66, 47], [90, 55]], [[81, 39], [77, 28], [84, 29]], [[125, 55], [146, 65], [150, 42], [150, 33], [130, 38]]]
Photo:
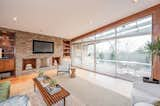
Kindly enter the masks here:
[[[63, 56], [63, 39], [43, 34], [36, 34], [6, 28], [0, 28], [1, 30], [15, 32], [15, 74], [22, 75], [30, 73], [32, 71], [48, 70], [53, 69], [54, 64], [52, 63], [53, 57]], [[34, 54], [33, 51], [33, 40], [54, 42], [54, 53], [40, 53]], [[1, 57], [0, 49], [0, 57]], [[45, 58], [45, 59], [43, 59]], [[47, 66], [47, 67], [46, 67]], [[44, 68], [41, 68], [44, 67]], [[46, 68], [45, 68], [46, 67]]]

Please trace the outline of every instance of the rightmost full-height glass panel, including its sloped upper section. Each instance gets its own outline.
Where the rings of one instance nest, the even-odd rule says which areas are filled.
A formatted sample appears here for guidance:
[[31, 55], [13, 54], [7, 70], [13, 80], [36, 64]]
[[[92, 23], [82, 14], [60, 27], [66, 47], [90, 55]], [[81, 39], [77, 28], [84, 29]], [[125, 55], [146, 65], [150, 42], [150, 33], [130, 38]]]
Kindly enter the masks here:
[[152, 17], [117, 27], [117, 76], [134, 80], [151, 76], [151, 56], [145, 45], [152, 40]]

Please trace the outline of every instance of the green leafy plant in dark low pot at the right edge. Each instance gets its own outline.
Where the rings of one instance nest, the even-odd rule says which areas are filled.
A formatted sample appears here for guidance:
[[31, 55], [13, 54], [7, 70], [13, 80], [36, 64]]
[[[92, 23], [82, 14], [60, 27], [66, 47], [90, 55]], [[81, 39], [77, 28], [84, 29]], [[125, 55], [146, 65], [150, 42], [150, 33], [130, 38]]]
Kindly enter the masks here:
[[[154, 59], [158, 59], [157, 61], [160, 61], [160, 38], [156, 42], [148, 43], [145, 46], [145, 50], [147, 53], [153, 56]], [[151, 82], [151, 83], [159, 83], [158, 80], [153, 79], [153, 76], [150, 78], [143, 77], [144, 82]]]

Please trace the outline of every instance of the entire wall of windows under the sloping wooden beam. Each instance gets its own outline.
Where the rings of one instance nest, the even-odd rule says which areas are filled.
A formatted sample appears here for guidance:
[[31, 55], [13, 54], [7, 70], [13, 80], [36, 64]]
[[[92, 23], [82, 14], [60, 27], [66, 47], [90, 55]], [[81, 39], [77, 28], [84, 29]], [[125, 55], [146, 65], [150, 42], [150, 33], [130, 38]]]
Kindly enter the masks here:
[[148, 16], [73, 42], [72, 62], [78, 64], [76, 60], [82, 68], [128, 80], [150, 76], [151, 55], [145, 52], [145, 45], [151, 41], [152, 16]]

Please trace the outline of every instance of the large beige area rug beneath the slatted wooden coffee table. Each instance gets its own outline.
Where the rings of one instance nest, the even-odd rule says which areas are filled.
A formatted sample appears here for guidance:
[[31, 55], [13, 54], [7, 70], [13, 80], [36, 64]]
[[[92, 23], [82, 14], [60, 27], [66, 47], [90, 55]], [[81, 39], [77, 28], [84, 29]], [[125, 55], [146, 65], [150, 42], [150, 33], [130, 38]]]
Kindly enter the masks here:
[[[73, 79], [68, 75], [50, 77], [56, 79], [70, 92], [71, 95], [66, 98], [66, 106], [131, 106], [129, 98], [80, 77]], [[22, 94], [29, 96], [32, 106], [46, 106], [38, 90], [34, 92], [32, 79], [12, 85], [11, 96]], [[54, 106], [63, 106], [63, 101]]]

